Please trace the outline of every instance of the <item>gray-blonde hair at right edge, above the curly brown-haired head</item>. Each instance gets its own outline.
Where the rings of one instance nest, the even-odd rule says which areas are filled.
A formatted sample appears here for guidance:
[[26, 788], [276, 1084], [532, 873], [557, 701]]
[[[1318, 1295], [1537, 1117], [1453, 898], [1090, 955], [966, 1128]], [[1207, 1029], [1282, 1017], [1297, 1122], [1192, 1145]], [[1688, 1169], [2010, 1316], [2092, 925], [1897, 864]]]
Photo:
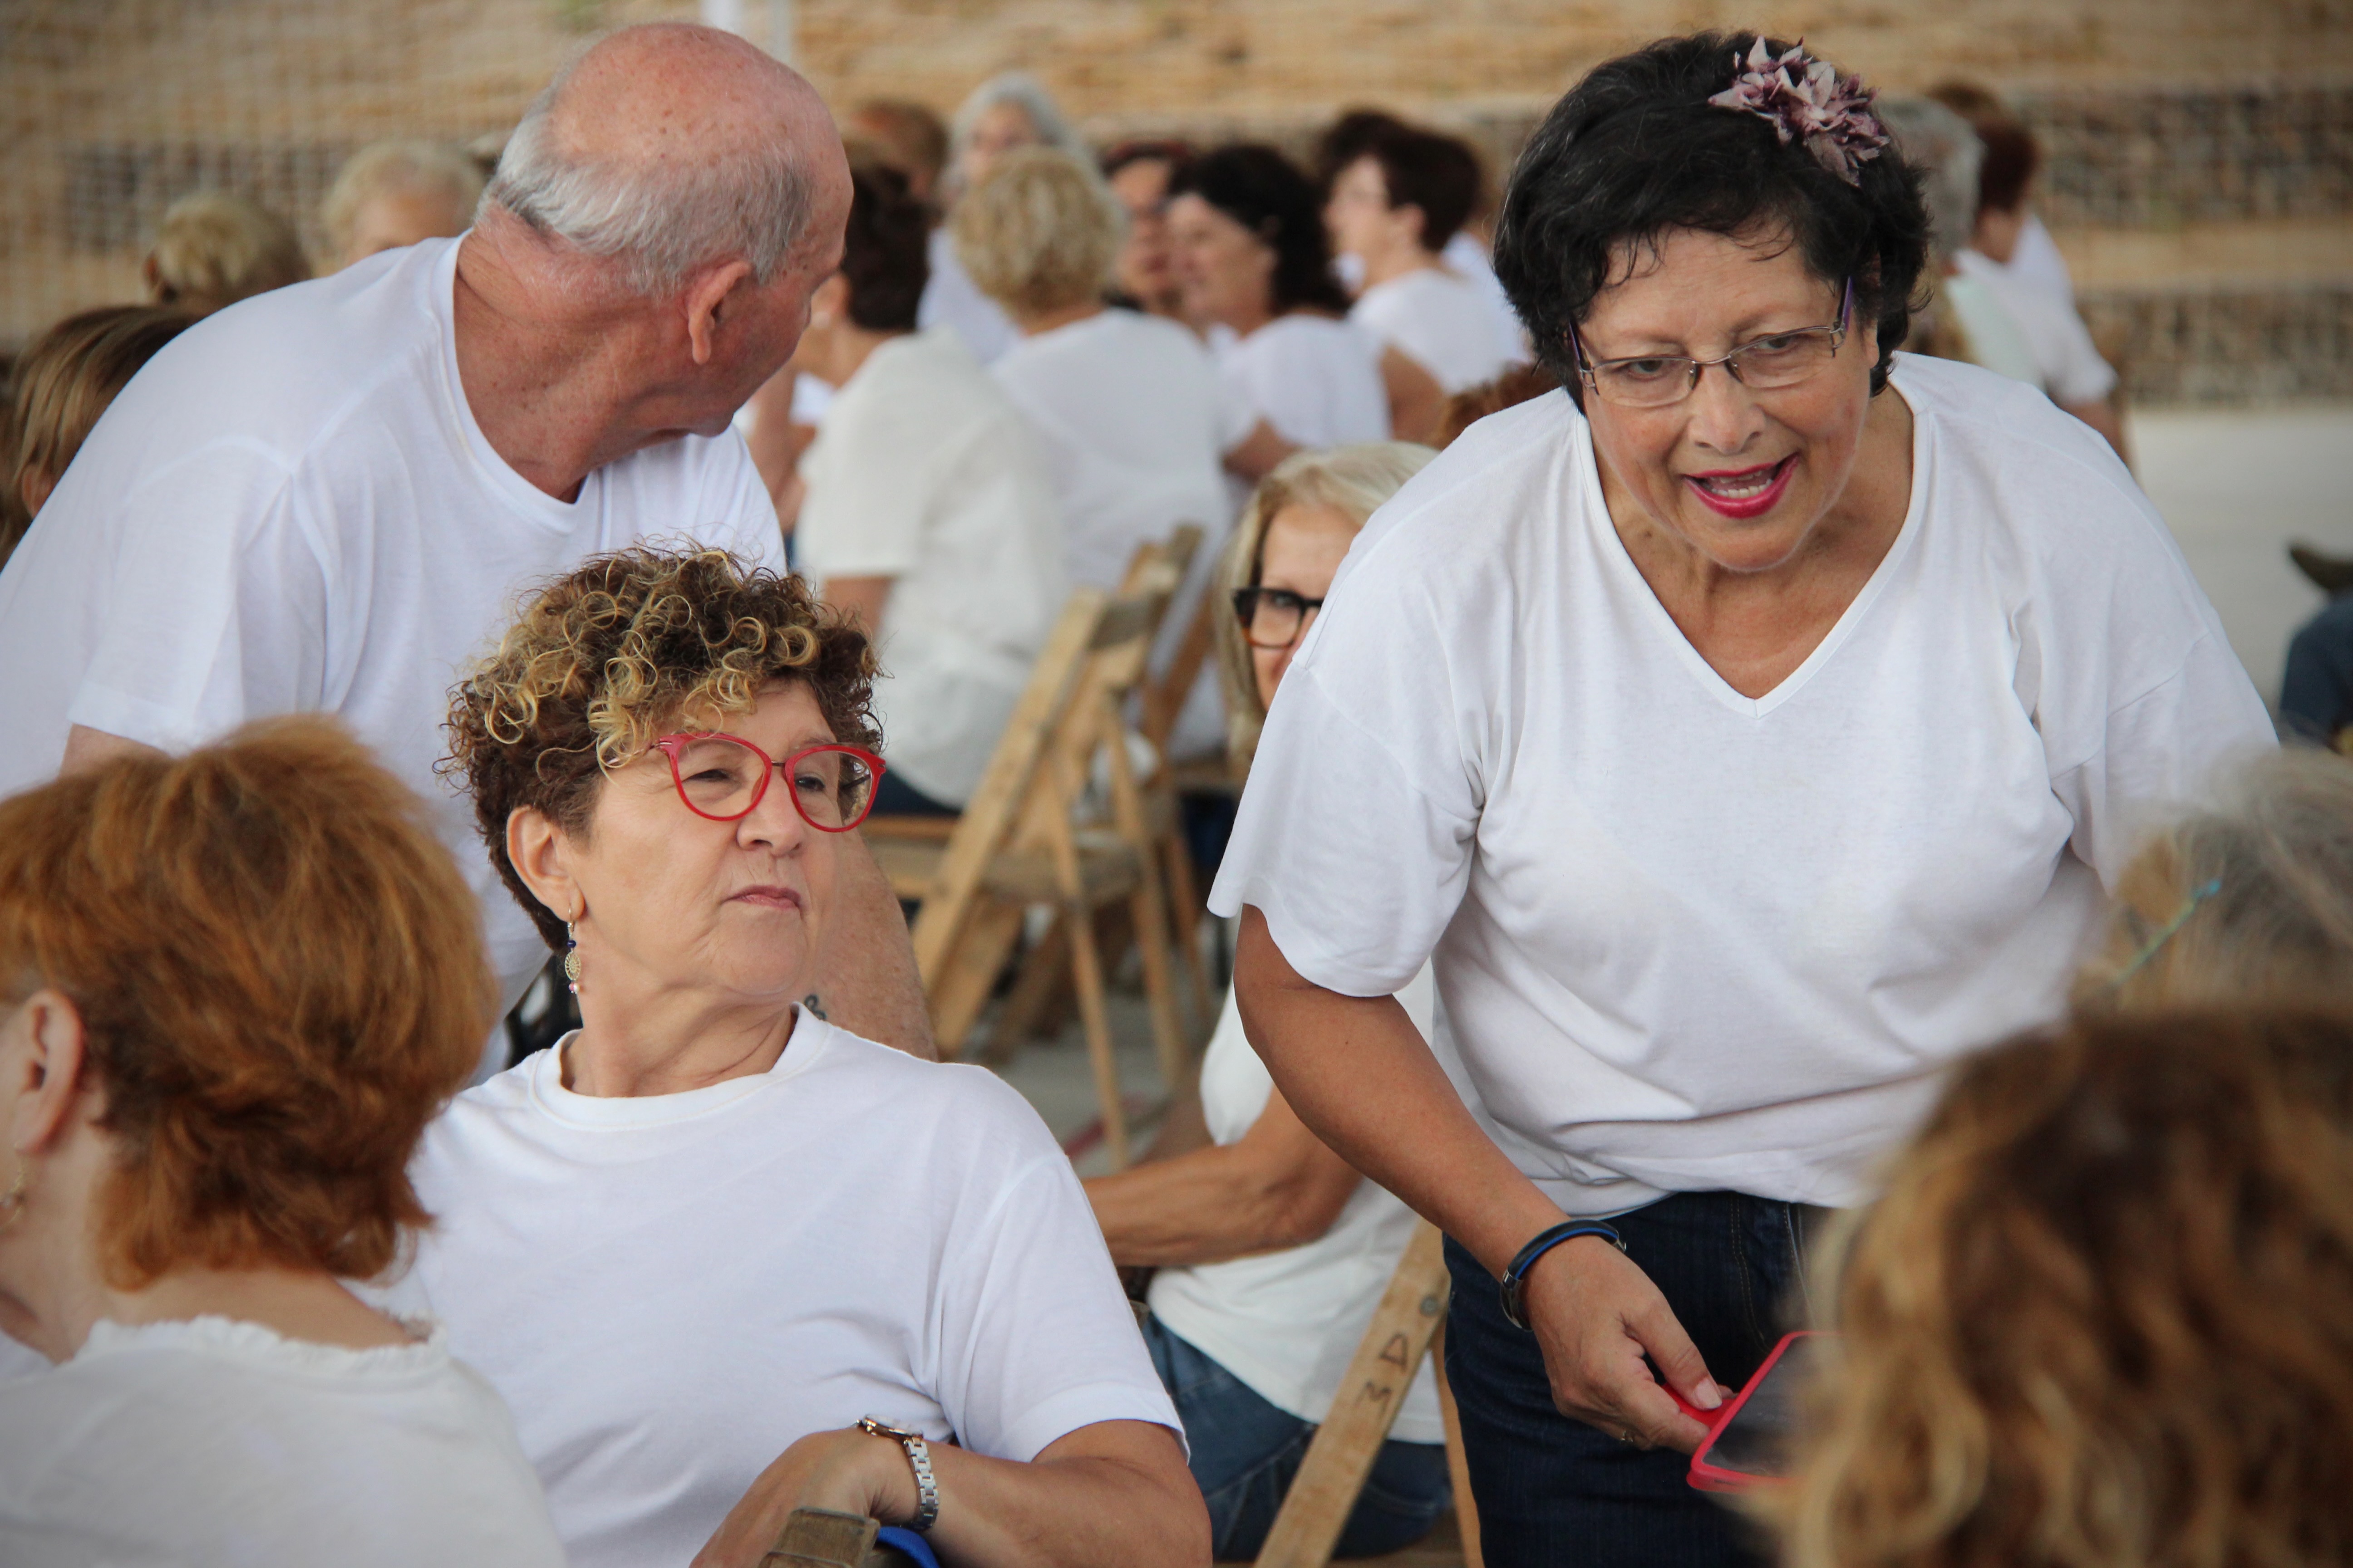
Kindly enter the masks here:
[[2353, 1011], [2353, 759], [2275, 752], [2125, 867], [2078, 1006], [2301, 1001]]

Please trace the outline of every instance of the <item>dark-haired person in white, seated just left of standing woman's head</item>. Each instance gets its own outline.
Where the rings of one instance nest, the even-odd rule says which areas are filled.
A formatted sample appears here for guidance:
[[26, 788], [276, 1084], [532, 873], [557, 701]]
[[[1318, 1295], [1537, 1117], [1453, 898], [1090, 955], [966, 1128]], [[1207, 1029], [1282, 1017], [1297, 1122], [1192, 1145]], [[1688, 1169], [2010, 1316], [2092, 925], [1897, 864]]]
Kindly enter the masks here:
[[1445, 261], [1478, 202], [1478, 155], [1454, 136], [1402, 129], [1367, 141], [1332, 179], [1325, 223], [1365, 275], [1351, 322], [1402, 350], [1454, 395], [1522, 360], [1518, 327]]

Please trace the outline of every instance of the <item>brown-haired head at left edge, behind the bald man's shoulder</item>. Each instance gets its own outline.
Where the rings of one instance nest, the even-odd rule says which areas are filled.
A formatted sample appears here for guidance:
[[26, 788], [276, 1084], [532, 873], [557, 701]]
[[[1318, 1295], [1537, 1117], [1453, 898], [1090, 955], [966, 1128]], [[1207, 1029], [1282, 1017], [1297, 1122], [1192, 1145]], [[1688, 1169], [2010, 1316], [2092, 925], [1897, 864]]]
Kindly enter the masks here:
[[68, 315], [16, 360], [9, 388], [7, 487], [0, 489], [0, 567], [33, 527], [99, 414], [155, 350], [195, 317], [162, 306], [99, 306]]

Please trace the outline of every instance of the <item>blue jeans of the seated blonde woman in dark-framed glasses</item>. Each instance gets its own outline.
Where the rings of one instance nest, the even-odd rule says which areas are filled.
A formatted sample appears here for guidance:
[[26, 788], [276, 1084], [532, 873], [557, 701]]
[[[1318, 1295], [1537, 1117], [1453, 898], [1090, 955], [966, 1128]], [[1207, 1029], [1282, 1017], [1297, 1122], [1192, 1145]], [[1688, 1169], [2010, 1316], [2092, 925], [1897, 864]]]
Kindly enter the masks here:
[[[1179, 1340], [1160, 1319], [1144, 1321], [1144, 1342], [1193, 1448], [1193, 1479], [1209, 1505], [1209, 1556], [1221, 1563], [1254, 1559], [1315, 1427], [1259, 1399], [1247, 1382], [1200, 1347]], [[1365, 1476], [1334, 1556], [1379, 1556], [1409, 1547], [1431, 1533], [1449, 1500], [1445, 1443], [1391, 1439]], [[1501, 1561], [1497, 1559], [1499, 1568]]]

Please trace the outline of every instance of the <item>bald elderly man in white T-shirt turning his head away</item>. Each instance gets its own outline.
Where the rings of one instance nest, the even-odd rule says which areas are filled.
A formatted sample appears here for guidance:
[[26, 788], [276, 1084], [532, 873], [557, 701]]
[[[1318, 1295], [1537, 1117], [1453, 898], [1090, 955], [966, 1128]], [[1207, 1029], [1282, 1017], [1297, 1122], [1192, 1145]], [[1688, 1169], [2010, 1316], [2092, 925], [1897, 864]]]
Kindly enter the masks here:
[[[791, 357], [847, 212], [793, 71], [696, 26], [600, 42], [471, 233], [221, 310], [115, 400], [0, 574], [0, 795], [334, 712], [433, 804], [513, 1004], [546, 947], [433, 773], [449, 686], [518, 588], [586, 555], [685, 536], [784, 569], [729, 416]], [[854, 860], [826, 1011], [929, 1056], [906, 924]]]

